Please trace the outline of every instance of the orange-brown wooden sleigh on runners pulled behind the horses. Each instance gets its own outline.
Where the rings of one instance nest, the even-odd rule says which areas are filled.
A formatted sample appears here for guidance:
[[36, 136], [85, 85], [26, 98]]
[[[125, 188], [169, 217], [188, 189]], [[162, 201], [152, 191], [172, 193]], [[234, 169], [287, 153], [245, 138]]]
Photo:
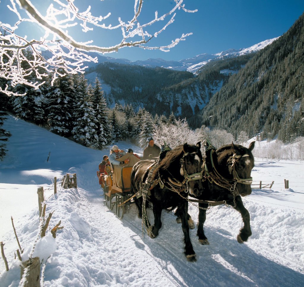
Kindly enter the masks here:
[[[97, 171], [99, 184], [103, 188], [103, 203], [114, 214], [122, 219], [123, 215], [130, 209], [130, 204], [134, 203], [131, 200], [132, 191], [130, 185], [130, 174], [132, 166], [121, 168], [121, 182], [115, 177], [114, 166], [106, 166], [105, 173]], [[126, 202], [125, 202], [126, 201]]]

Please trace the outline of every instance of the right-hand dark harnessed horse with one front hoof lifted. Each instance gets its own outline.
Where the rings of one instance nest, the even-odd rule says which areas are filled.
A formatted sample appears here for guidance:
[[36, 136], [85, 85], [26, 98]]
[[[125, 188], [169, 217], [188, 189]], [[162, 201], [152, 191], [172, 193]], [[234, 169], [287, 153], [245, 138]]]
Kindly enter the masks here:
[[[199, 225], [197, 235], [201, 244], [209, 244], [204, 234], [206, 210], [210, 205], [231, 205], [242, 215], [244, 227], [240, 229], [237, 241], [243, 243], [252, 234], [250, 229], [250, 215], [244, 207], [241, 196], [251, 194], [252, 177], [250, 173], [254, 167], [254, 148], [251, 142], [249, 148], [242, 145], [224, 145], [219, 149], [212, 146], [206, 150], [203, 171], [203, 192], [196, 197], [199, 203]], [[217, 203], [211, 202], [216, 201]]]

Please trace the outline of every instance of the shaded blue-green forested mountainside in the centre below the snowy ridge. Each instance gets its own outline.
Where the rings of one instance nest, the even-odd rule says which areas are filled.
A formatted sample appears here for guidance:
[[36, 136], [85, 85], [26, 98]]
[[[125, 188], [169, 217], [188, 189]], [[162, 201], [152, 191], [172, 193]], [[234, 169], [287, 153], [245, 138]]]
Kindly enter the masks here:
[[[114, 107], [115, 103], [132, 104], [135, 109], [144, 107], [153, 115], [169, 116], [173, 111], [175, 116], [189, 119], [202, 110], [212, 95], [253, 55], [211, 61], [198, 75], [104, 62], [90, 68], [86, 78], [88, 82], [96, 76], [100, 79], [109, 107]], [[191, 125], [200, 127], [201, 123], [193, 120]]]

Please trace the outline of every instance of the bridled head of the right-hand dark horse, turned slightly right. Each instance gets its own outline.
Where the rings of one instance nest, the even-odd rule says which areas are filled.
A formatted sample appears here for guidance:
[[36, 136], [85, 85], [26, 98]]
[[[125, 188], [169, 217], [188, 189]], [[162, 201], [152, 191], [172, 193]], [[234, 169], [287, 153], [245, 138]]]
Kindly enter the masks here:
[[242, 145], [232, 143], [216, 150], [216, 153], [226, 163], [229, 177], [232, 177], [236, 183], [235, 191], [241, 196], [251, 194], [252, 177], [250, 174], [254, 167], [254, 157], [251, 151], [254, 148], [254, 143], [251, 142], [248, 149]]

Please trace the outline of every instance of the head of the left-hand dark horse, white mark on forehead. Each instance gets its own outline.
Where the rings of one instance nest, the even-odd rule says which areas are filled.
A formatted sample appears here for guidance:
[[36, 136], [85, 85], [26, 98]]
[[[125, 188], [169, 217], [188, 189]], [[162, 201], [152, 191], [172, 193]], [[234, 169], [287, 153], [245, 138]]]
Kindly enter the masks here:
[[202, 187], [202, 152], [201, 142], [196, 145], [183, 145], [184, 154], [181, 158], [181, 175], [188, 181], [189, 194], [200, 196]]

